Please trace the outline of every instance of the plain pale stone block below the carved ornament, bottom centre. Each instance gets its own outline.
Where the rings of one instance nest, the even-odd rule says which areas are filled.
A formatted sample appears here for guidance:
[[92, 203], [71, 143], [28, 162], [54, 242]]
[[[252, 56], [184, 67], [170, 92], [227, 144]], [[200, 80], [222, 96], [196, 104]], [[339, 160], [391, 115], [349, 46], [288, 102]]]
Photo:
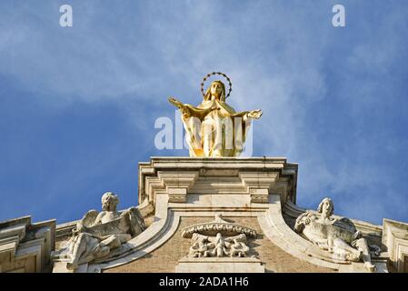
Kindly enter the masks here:
[[184, 257], [175, 273], [264, 273], [256, 257]]

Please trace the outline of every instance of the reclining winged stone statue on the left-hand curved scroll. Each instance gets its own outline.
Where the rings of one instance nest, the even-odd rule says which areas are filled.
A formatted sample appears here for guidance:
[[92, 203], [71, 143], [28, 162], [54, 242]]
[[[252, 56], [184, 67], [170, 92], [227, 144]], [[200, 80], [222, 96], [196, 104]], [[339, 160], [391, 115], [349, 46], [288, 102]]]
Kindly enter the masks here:
[[116, 211], [118, 196], [106, 192], [102, 196], [102, 209], [88, 211], [73, 229], [68, 246], [55, 252], [53, 258], [68, 258], [67, 269], [109, 256], [132, 237], [144, 231], [144, 219], [135, 207]]

